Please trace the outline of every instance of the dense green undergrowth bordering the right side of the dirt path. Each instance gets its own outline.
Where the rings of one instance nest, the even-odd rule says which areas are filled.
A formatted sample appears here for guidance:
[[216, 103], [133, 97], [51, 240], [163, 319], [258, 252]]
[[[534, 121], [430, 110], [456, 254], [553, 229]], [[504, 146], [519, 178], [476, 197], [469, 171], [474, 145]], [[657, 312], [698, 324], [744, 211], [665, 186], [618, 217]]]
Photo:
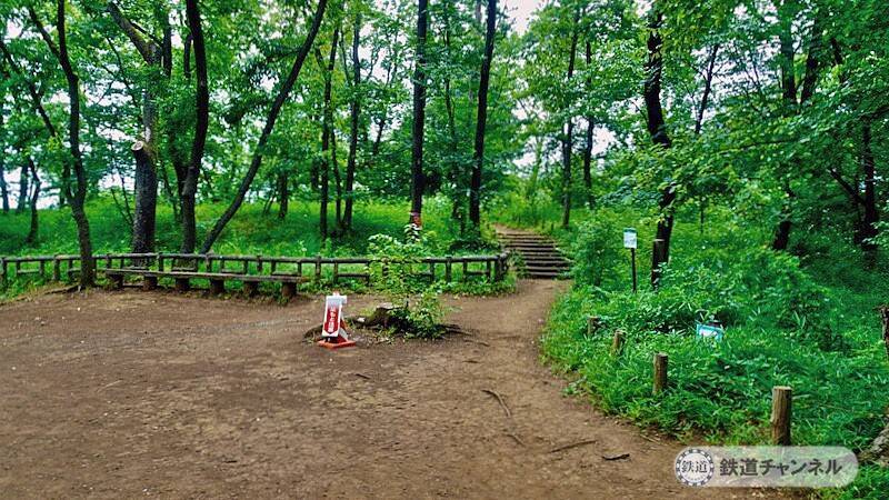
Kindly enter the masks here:
[[[549, 214], [550, 221], [540, 219]], [[716, 210], [701, 232], [693, 212], [680, 212], [671, 261], [658, 292], [649, 284], [656, 220], [636, 208], [577, 210], [558, 228], [558, 207], [516, 210], [501, 220], [551, 232], [570, 250], [576, 284], [553, 307], [542, 354], [572, 373], [570, 392], [603, 411], [656, 427], [679, 439], [712, 443], [769, 441], [772, 386], [793, 388], [793, 441], [860, 451], [886, 421], [889, 362], [873, 310], [889, 298], [886, 259], [873, 270], [843, 234], [807, 233], [795, 253], [768, 250], [770, 234]], [[550, 229], [552, 223], [552, 229]], [[630, 286], [625, 227], [639, 230], [640, 292]], [[590, 338], [587, 318], [605, 329]], [[698, 320], [727, 326], [722, 342], [695, 337]], [[615, 329], [627, 332], [618, 357]], [[651, 393], [652, 357], [669, 356], [669, 389]], [[819, 494], [882, 498], [889, 471], [865, 466], [843, 490]]]

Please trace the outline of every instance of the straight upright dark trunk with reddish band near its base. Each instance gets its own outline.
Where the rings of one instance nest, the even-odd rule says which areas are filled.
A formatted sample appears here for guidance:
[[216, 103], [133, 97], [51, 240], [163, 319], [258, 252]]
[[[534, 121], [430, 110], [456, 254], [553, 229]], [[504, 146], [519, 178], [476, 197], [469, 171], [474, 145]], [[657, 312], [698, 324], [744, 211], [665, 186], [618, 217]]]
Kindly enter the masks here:
[[417, 61], [413, 70], [413, 127], [411, 147], [411, 186], [409, 222], [422, 224], [423, 190], [423, 127], [426, 124], [426, 33], [429, 24], [428, 0], [417, 0]]

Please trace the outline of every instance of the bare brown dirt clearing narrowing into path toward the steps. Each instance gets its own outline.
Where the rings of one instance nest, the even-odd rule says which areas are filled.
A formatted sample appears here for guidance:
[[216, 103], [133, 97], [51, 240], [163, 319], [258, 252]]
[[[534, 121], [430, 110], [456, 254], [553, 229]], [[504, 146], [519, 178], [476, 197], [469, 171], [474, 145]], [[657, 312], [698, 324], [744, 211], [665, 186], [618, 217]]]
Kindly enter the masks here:
[[2, 306], [0, 497], [712, 498], [673, 479], [679, 444], [563, 397], [539, 363], [563, 286], [450, 300], [472, 336], [341, 352], [302, 339], [318, 299]]

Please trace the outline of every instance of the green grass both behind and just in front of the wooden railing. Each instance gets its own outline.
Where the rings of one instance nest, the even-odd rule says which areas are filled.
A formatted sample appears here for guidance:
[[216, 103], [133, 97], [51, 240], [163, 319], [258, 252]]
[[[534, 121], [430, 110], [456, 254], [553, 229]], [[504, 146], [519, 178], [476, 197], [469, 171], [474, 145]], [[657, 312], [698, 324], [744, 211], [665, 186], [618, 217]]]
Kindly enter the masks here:
[[[212, 226], [224, 209], [221, 204], [204, 204], [198, 208], [199, 237]], [[459, 234], [459, 226], [450, 220], [450, 204], [441, 198], [426, 200], [424, 231], [422, 244], [416, 248], [420, 256], [444, 254], [490, 254], [497, 251], [486, 241], [468, 241]], [[127, 252], [130, 246], [130, 229], [124, 217], [120, 213], [112, 200], [97, 199], [87, 206], [90, 220], [90, 230], [96, 253]], [[278, 219], [277, 207], [268, 213], [262, 213], [262, 206], [246, 204], [229, 223], [222, 237], [213, 247], [213, 252], [226, 254], [263, 254], [263, 256], [327, 256], [327, 257], [354, 257], [366, 256], [371, 252], [369, 241], [374, 234], [386, 234], [396, 241], [404, 239], [404, 224], [408, 220], [406, 207], [398, 203], [359, 203], [356, 206], [353, 231], [347, 236], [331, 238], [322, 243], [318, 228], [318, 203], [296, 201], [291, 202], [286, 219]], [[331, 209], [330, 223], [334, 224], [336, 218]], [[0, 254], [3, 256], [34, 256], [77, 253], [77, 232], [70, 212], [63, 210], [40, 211], [40, 238], [37, 246], [24, 244], [28, 233], [30, 214], [8, 213], [0, 214]], [[179, 249], [179, 227], [172, 212], [166, 206], [159, 207], [157, 221], [157, 249], [159, 251], [176, 252]], [[485, 236], [490, 239], [491, 229], [485, 228]], [[200, 241], [200, 239], [199, 239]], [[473, 243], [467, 246], [467, 242]], [[399, 257], [398, 249], [392, 249], [392, 257]], [[478, 267], [479, 264], [475, 264]], [[352, 269], [354, 268], [354, 269]], [[343, 266], [340, 271], [363, 271], [362, 267]], [[479, 270], [479, 269], [476, 269]], [[438, 272], [443, 270], [439, 267]], [[515, 277], [506, 281], [489, 283], [481, 279], [461, 278], [460, 266], [453, 268], [453, 281], [440, 280], [429, 286], [428, 282], [417, 283], [414, 291], [431, 289], [433, 291], [492, 294], [510, 291], [515, 288]], [[377, 280], [379, 282], [379, 280]], [[46, 284], [43, 280], [17, 279], [0, 290], [0, 298], [17, 297], [26, 291]], [[200, 284], [200, 283], [199, 283]], [[329, 269], [321, 277], [320, 282], [303, 287], [307, 292], [320, 291], [332, 287], [332, 276]], [[360, 281], [341, 280], [337, 288], [343, 291], [366, 291], [367, 287]], [[380, 284], [374, 284], [380, 289]]]

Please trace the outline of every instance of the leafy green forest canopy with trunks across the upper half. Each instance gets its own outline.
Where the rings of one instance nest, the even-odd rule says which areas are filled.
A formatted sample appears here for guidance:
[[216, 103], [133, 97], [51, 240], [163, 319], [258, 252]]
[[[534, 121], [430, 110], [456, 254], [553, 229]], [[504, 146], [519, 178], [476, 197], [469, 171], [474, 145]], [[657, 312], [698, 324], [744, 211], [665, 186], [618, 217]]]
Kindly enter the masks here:
[[[317, 203], [313, 231], [336, 246], [369, 202], [422, 223], [423, 199], [447, 200], [471, 239], [518, 194], [517, 209], [558, 203], [565, 228], [600, 204], [650, 208], [655, 268], [676, 213], [715, 208], [777, 251], [829, 228], [875, 262], [885, 2], [513, 8], [4, 0], [2, 203], [34, 212], [12, 250], [46, 240], [38, 212], [54, 207], [91, 254], [101, 200], [129, 250], [207, 252], [244, 203], [281, 219]], [[158, 217], [177, 234], [159, 238]]]

